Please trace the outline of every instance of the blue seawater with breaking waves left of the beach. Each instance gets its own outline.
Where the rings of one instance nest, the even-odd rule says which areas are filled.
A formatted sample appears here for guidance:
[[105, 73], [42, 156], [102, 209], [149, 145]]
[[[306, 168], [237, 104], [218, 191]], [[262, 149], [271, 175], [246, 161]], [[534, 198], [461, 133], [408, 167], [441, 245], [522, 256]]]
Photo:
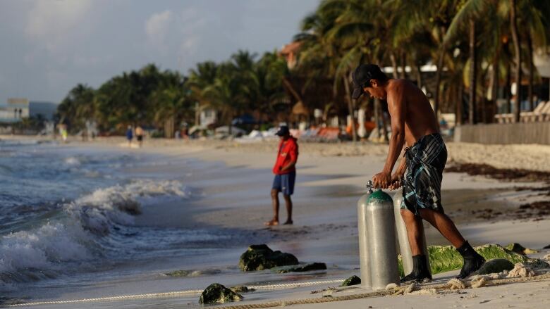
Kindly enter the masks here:
[[196, 244], [223, 240], [209, 231], [134, 225], [144, 203], [193, 198], [181, 180], [123, 172], [160, 159], [55, 142], [0, 141], [0, 291], [116, 273], [125, 261], [185, 255], [200, 248]]

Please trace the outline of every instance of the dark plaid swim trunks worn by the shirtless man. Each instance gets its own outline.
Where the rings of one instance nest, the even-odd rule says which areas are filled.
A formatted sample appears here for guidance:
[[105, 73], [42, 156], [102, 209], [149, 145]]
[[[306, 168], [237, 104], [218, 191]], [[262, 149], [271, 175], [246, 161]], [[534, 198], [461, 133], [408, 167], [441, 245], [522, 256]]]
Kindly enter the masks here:
[[441, 179], [447, 162], [447, 148], [441, 134], [429, 134], [405, 149], [407, 171], [403, 179], [402, 209], [419, 215], [419, 208], [444, 213]]

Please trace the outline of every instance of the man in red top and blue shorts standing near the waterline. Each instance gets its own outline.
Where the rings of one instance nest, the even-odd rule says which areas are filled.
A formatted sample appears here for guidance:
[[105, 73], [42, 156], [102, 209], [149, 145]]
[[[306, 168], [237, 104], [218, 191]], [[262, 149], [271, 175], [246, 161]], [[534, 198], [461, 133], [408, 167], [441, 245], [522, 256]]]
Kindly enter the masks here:
[[285, 225], [291, 225], [292, 222], [292, 200], [294, 193], [294, 182], [296, 179], [296, 161], [298, 160], [298, 143], [291, 136], [291, 132], [286, 125], [279, 128], [276, 133], [281, 142], [279, 143], [279, 152], [277, 160], [273, 167], [275, 178], [271, 187], [271, 205], [273, 206], [273, 219], [265, 222], [265, 225], [279, 225], [279, 192], [283, 192], [286, 202], [286, 213], [288, 217]]

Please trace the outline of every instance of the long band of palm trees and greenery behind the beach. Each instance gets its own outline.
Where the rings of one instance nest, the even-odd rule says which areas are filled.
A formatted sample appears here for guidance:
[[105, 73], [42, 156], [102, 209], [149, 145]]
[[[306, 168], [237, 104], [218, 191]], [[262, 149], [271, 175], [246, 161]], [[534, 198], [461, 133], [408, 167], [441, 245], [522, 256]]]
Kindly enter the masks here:
[[[149, 64], [98, 89], [78, 84], [59, 105], [59, 120], [73, 131], [87, 120], [103, 132], [138, 124], [168, 130], [167, 123], [198, 125], [198, 113], [210, 108], [216, 125], [231, 130], [243, 115], [258, 123], [304, 120], [292, 115], [300, 103], [321, 110], [324, 122], [363, 108], [384, 130], [384, 104], [350, 97], [352, 70], [377, 63], [415, 82], [437, 113], [455, 113], [458, 124], [492, 122], [501, 112], [513, 112], [517, 122], [541, 95], [533, 55], [549, 52], [549, 18], [550, 1], [324, 0], [295, 35], [295, 65], [276, 51], [238, 51], [221, 63], [197, 63], [188, 75]], [[312, 113], [305, 116], [314, 122]], [[355, 139], [355, 125], [351, 130]]]

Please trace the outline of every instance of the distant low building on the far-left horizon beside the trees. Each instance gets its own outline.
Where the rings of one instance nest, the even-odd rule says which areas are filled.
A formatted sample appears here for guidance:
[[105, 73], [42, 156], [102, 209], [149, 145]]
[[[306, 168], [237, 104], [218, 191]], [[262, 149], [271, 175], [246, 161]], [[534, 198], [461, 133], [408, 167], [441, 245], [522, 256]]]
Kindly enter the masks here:
[[11, 98], [6, 105], [0, 105], [0, 122], [19, 122], [24, 118], [42, 118], [51, 121], [54, 120], [56, 111], [56, 103]]

